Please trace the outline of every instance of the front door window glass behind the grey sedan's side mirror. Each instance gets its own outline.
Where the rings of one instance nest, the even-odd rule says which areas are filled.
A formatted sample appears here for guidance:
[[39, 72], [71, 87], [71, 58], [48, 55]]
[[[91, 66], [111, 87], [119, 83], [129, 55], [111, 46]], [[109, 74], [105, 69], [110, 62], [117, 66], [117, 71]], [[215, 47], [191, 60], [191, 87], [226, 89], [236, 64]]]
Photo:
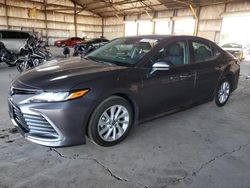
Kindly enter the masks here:
[[188, 64], [187, 44], [185, 41], [174, 42], [160, 49], [151, 59], [155, 62], [167, 62], [172, 66]]

